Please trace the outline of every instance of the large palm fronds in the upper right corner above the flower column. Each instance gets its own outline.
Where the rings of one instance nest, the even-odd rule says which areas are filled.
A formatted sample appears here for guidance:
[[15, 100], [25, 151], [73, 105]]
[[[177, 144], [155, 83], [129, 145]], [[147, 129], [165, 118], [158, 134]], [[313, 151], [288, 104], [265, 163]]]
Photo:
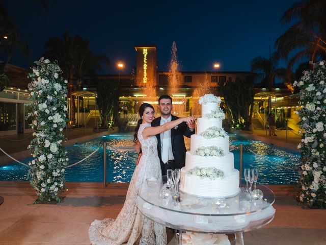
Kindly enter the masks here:
[[[281, 23], [295, 22], [275, 42], [281, 58], [288, 60], [287, 71], [302, 58], [315, 62], [326, 53], [326, 1], [304, 0], [293, 4], [282, 16]], [[298, 50], [298, 52], [297, 52]], [[292, 57], [292, 52], [296, 54]]]

